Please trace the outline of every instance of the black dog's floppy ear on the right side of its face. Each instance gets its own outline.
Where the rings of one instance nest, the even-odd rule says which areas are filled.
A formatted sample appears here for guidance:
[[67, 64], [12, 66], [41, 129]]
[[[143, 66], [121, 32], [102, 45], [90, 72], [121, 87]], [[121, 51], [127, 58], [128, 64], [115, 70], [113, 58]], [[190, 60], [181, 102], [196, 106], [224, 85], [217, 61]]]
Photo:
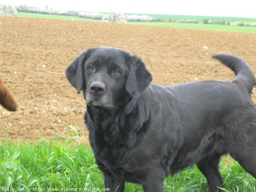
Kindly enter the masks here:
[[130, 71], [125, 88], [133, 98], [138, 99], [152, 81], [152, 76], [137, 55], [130, 55], [128, 62]]

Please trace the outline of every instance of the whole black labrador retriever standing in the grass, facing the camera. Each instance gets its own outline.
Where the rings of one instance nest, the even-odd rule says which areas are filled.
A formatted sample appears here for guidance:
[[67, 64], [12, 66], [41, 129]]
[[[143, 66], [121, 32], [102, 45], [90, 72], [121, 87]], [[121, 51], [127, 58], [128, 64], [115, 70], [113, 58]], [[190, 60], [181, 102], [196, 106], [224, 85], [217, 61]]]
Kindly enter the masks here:
[[123, 192], [125, 181], [162, 192], [166, 175], [195, 163], [216, 192], [222, 154], [256, 177], [255, 78], [241, 58], [213, 58], [236, 73], [233, 81], [151, 84], [137, 55], [112, 47], [88, 49], [70, 64], [66, 76], [86, 100], [90, 145], [111, 192]]

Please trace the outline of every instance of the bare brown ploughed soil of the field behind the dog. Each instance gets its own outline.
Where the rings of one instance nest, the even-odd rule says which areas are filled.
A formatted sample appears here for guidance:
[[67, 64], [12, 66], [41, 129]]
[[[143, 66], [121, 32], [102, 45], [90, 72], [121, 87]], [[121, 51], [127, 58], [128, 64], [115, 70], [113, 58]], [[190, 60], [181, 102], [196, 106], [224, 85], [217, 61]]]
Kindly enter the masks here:
[[17, 112], [0, 108], [2, 140], [75, 136], [86, 142], [85, 102], [64, 72], [81, 52], [99, 46], [139, 55], [162, 85], [233, 79], [211, 59], [218, 53], [238, 55], [256, 72], [253, 33], [0, 17], [0, 77], [19, 105]]

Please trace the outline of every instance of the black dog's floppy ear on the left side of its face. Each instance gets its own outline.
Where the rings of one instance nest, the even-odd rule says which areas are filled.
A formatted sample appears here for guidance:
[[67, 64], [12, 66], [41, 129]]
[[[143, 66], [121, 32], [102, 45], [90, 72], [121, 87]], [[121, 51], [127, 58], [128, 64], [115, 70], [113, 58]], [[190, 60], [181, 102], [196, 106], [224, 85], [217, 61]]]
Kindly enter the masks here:
[[81, 53], [66, 70], [67, 80], [76, 87], [76, 91], [79, 94], [85, 85], [84, 82], [84, 61], [86, 59], [87, 52]]

